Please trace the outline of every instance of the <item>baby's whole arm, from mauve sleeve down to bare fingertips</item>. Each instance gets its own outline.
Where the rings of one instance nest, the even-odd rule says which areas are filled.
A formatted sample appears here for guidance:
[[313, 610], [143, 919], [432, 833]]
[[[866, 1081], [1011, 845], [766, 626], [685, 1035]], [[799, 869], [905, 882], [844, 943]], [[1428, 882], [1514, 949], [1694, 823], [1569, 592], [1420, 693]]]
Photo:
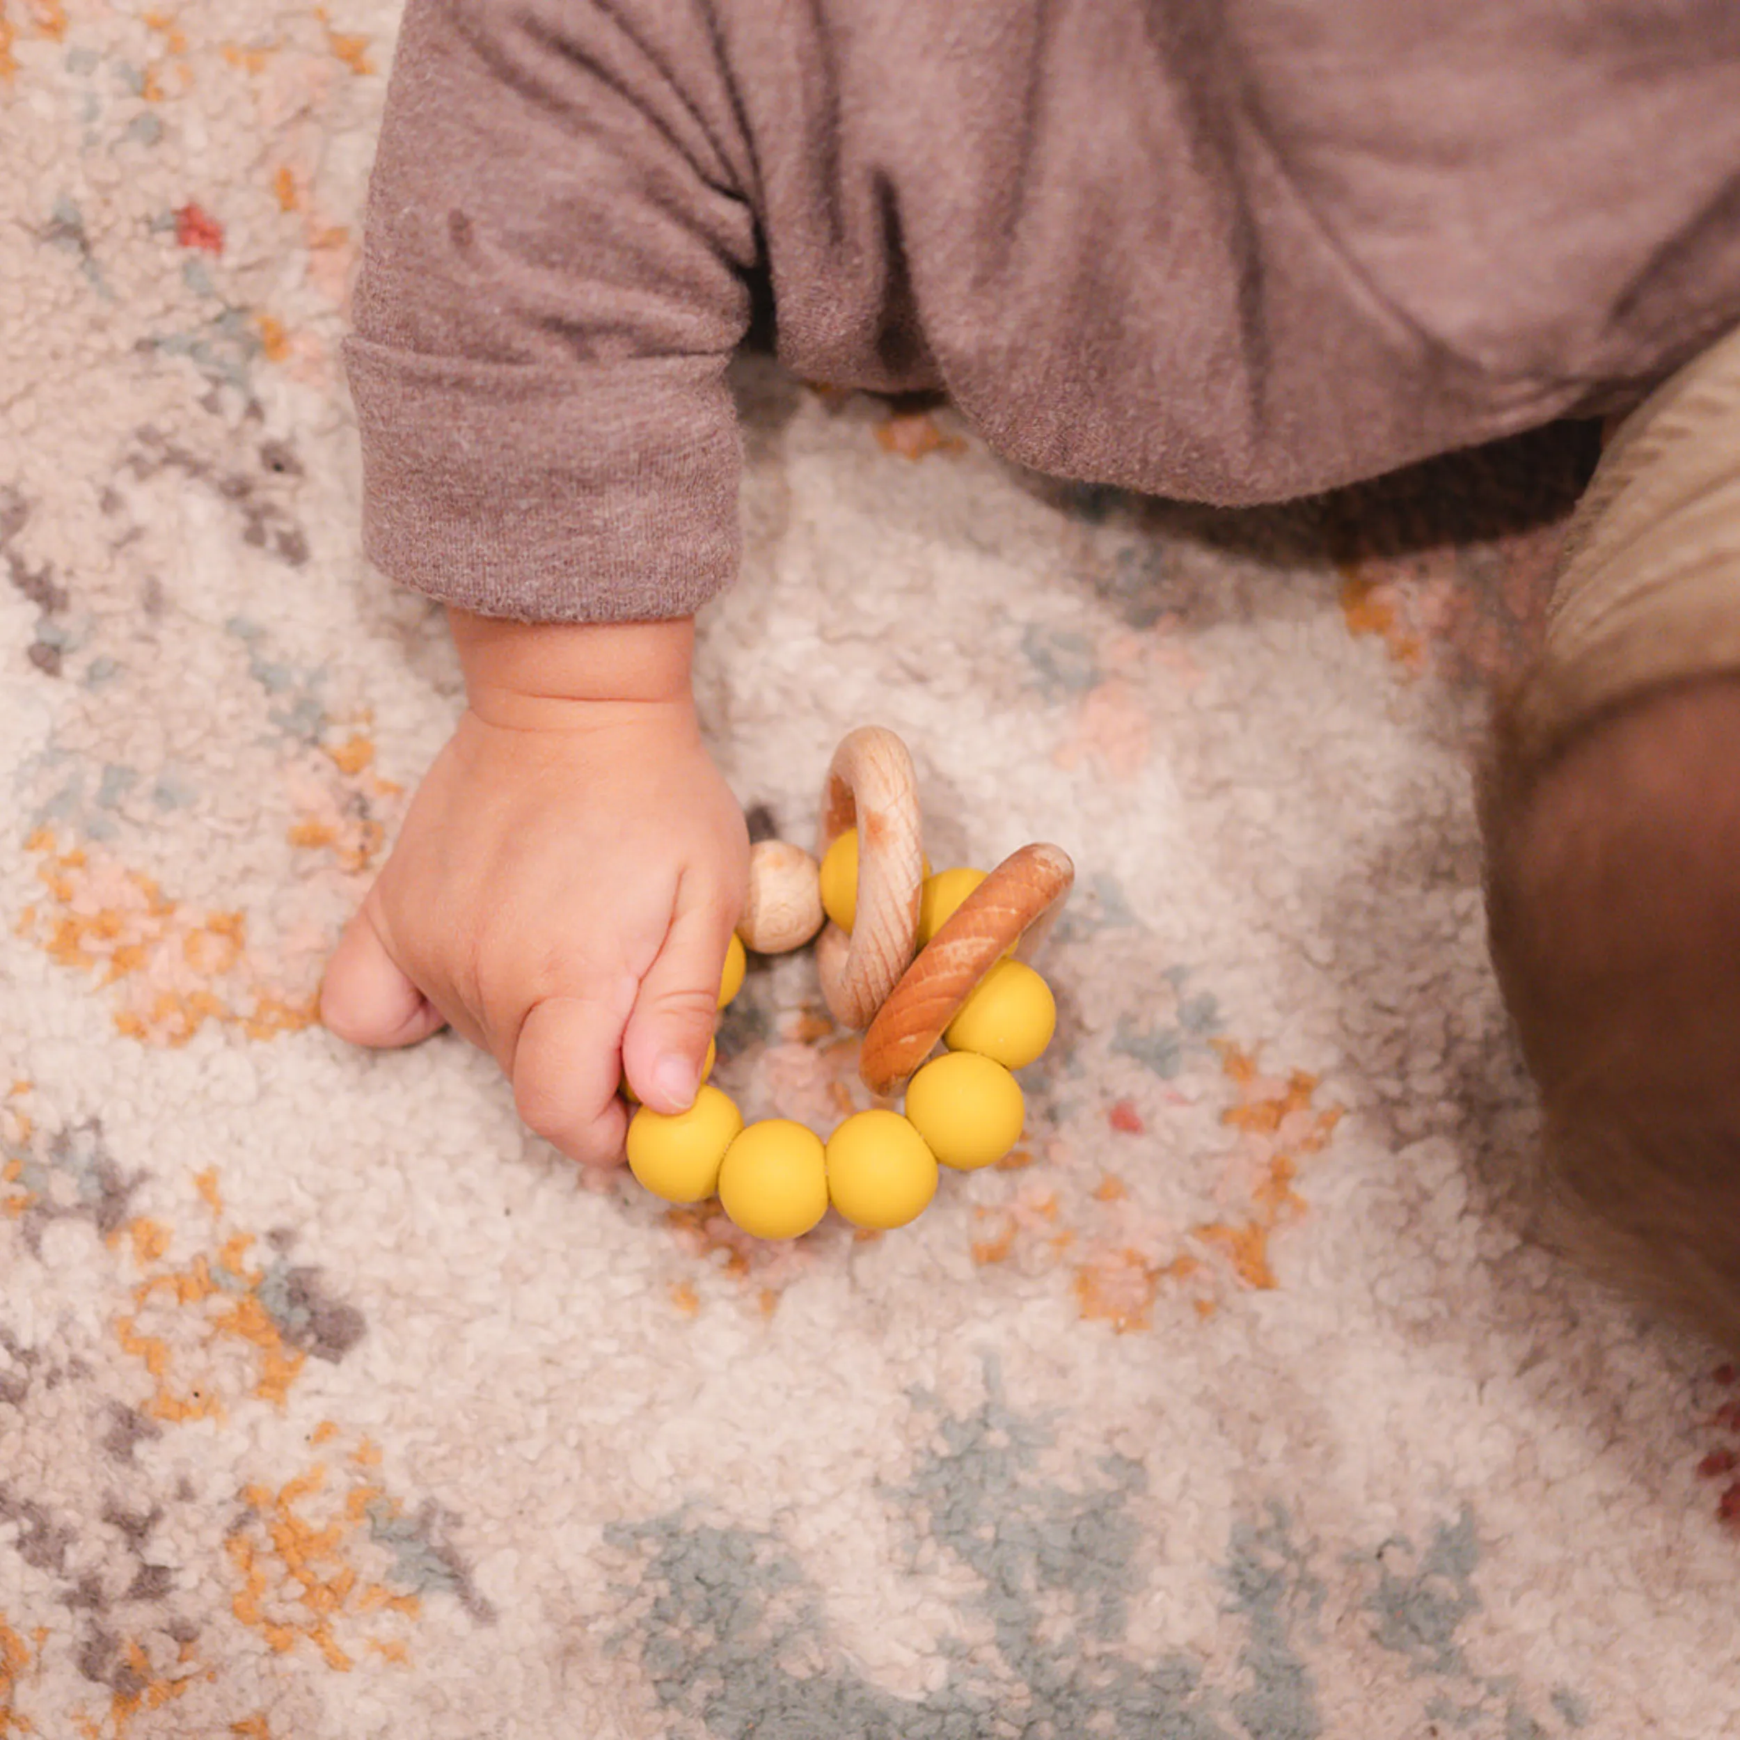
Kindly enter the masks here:
[[409, 0], [346, 364], [364, 545], [468, 708], [331, 962], [327, 1025], [485, 1047], [567, 1154], [689, 1101], [748, 846], [689, 693], [736, 566], [750, 157], [691, 0]]

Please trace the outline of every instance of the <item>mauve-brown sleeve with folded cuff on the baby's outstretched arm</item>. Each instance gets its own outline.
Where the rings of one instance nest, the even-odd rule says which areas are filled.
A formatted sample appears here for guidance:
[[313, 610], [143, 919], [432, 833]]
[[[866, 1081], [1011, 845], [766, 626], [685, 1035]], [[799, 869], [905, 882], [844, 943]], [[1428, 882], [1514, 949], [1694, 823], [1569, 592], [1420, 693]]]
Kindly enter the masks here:
[[392, 579], [527, 621], [731, 579], [734, 113], [699, 0], [409, 0], [345, 346]]

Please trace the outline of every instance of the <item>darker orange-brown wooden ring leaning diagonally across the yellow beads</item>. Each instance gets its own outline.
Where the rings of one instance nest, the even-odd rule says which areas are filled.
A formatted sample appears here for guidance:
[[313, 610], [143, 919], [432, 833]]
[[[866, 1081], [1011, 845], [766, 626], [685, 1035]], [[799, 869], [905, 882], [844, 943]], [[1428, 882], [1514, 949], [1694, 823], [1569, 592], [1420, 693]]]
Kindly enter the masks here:
[[1023, 960], [1039, 948], [1074, 882], [1075, 865], [1060, 846], [1023, 846], [1004, 858], [943, 920], [877, 1011], [858, 1058], [863, 1084], [893, 1093], [1011, 947]]

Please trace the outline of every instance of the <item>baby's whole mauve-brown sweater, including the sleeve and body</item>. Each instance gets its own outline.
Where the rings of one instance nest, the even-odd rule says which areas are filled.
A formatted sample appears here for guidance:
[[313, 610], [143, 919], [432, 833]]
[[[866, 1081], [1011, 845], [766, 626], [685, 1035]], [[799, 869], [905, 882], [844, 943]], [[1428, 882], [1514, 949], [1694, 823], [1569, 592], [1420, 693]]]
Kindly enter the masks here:
[[736, 562], [726, 364], [1209, 501], [1599, 409], [1740, 322], [1740, 0], [409, 0], [365, 545], [489, 614]]

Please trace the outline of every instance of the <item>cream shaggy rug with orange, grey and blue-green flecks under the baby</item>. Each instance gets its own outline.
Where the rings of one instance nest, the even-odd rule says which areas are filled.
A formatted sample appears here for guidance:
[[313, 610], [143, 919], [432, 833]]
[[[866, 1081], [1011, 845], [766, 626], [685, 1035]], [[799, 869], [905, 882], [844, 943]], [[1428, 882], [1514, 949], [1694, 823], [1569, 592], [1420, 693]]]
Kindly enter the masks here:
[[[334, 360], [393, 23], [0, 0], [0, 1735], [1737, 1731], [1740, 1387], [1509, 1183], [1467, 757], [1575, 432], [1228, 517], [745, 369], [745, 804], [880, 720], [940, 863], [1082, 872], [912, 1230], [755, 1248], [311, 1025], [458, 694]], [[804, 960], [722, 1051], [851, 1091]]]

